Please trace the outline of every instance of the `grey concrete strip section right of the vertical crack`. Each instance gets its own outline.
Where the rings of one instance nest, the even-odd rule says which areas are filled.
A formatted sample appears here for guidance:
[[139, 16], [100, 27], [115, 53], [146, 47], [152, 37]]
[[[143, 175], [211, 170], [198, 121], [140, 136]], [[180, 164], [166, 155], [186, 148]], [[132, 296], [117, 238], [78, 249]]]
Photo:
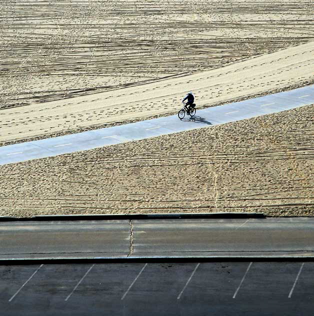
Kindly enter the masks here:
[[133, 220], [133, 255], [312, 256], [314, 218]]

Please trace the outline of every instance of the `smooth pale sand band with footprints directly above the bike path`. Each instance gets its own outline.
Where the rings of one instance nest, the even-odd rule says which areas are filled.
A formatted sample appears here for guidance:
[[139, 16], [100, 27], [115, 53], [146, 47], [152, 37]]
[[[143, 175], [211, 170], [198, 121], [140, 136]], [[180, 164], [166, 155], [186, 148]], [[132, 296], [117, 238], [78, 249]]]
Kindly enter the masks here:
[[123, 122], [177, 111], [193, 91], [198, 108], [254, 96], [291, 84], [314, 82], [314, 42], [286, 48], [218, 69], [144, 85], [2, 110], [0, 141], [25, 139], [73, 127]]

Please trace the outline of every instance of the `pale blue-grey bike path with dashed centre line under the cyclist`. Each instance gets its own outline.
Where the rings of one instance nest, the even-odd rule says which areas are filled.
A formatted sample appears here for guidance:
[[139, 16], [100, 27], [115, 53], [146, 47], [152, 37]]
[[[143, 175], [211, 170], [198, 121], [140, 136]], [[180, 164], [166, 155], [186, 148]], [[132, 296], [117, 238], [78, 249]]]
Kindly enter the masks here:
[[[197, 103], [197, 100], [196, 100]], [[177, 115], [0, 147], [0, 165], [223, 124], [314, 103], [314, 85]], [[179, 108], [178, 108], [179, 110]]]

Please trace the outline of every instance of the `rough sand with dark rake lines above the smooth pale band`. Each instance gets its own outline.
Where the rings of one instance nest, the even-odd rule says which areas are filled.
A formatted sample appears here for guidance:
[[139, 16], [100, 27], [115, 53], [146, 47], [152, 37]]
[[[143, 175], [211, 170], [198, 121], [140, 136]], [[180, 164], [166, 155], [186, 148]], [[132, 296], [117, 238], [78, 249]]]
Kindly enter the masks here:
[[2, 1], [0, 108], [220, 67], [313, 38], [311, 1]]

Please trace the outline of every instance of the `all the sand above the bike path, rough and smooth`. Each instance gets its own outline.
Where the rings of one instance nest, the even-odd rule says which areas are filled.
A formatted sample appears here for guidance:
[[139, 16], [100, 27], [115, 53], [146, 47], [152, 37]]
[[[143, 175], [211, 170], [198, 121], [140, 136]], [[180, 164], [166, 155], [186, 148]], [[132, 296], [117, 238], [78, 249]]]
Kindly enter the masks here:
[[2, 6], [0, 145], [313, 82], [310, 1]]

